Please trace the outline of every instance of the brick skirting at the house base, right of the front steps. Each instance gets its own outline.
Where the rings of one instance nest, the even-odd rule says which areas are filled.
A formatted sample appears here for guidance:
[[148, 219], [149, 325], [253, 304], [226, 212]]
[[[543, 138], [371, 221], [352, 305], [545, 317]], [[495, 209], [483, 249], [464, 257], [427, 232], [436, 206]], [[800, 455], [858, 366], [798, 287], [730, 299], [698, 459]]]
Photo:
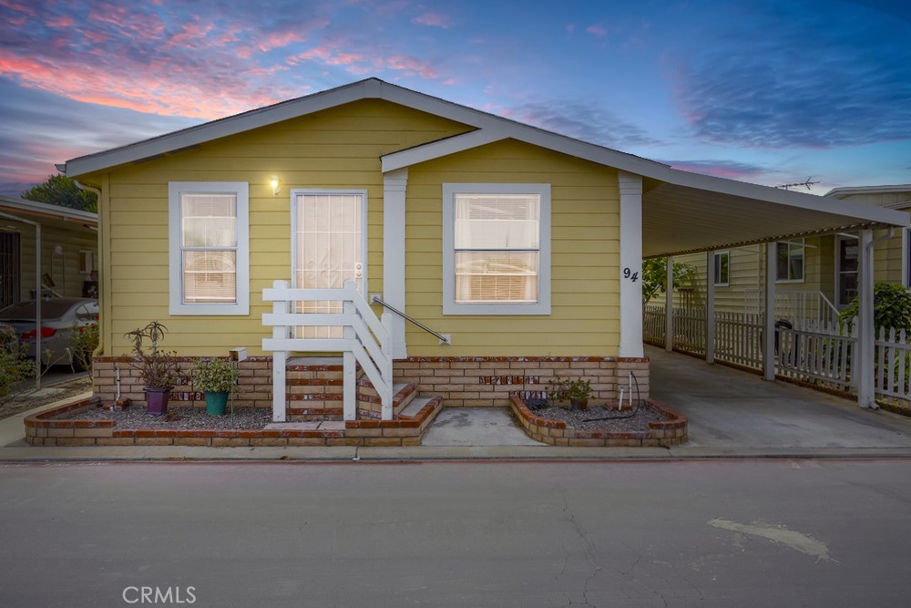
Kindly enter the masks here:
[[[396, 382], [413, 382], [424, 395], [443, 397], [445, 407], [509, 407], [509, 397], [543, 397], [548, 380], [588, 378], [590, 403], [617, 403], [628, 372], [639, 380], [640, 397], [649, 397], [649, 359], [616, 356], [424, 356], [396, 361]], [[633, 384], [633, 396], [636, 388]], [[625, 398], [625, 397], [624, 397]]]

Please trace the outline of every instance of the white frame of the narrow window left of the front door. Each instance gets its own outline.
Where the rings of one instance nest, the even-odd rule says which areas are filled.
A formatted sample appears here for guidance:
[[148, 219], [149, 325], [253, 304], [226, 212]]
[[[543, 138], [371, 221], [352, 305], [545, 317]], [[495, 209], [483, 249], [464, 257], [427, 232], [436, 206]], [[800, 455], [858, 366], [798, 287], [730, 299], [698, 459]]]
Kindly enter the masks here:
[[[237, 197], [237, 249], [233, 304], [183, 301], [183, 252], [180, 246], [181, 194], [233, 194]], [[250, 184], [245, 181], [171, 181], [168, 184], [169, 314], [250, 314]]]

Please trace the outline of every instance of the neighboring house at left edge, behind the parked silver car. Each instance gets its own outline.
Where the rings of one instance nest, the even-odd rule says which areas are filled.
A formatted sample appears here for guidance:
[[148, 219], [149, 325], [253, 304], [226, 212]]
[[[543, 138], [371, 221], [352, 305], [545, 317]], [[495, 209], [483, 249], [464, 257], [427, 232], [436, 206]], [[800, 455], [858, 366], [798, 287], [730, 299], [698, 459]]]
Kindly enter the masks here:
[[0, 195], [0, 308], [31, 299], [39, 276], [45, 294], [97, 297], [97, 225], [96, 213]]

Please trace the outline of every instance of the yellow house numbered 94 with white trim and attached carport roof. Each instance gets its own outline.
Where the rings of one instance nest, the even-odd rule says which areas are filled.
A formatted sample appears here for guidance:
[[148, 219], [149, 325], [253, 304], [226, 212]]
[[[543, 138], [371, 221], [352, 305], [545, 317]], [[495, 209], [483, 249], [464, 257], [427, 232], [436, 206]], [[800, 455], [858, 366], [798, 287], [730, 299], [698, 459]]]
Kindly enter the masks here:
[[[264, 325], [287, 318], [271, 314], [276, 280], [307, 289], [350, 280], [444, 335], [449, 344], [368, 310], [384, 315], [396, 382], [448, 406], [506, 406], [509, 391], [545, 389], [554, 374], [592, 377], [596, 397], [611, 401], [631, 371], [644, 398], [643, 255], [907, 222], [672, 170], [375, 78], [58, 168], [101, 192], [97, 392], [114, 395], [109, 370], [126, 365], [124, 334], [158, 320], [179, 356], [246, 347], [241, 402], [274, 396], [277, 419], [286, 384], [276, 345], [350, 346], [365, 362], [363, 335], [324, 316], [339, 304], [293, 309], [312, 322], [292, 333]], [[324, 377], [308, 369], [309, 380], [287, 379], [297, 405], [342, 399], [348, 379], [306, 386]], [[127, 373], [120, 381], [118, 394], [143, 399]]]

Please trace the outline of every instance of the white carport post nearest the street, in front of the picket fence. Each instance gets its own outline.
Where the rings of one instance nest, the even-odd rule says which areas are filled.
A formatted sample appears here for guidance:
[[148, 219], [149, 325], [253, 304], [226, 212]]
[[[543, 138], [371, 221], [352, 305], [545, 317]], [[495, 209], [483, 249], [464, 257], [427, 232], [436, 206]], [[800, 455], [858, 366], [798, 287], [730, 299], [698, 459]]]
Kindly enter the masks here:
[[857, 259], [857, 405], [877, 409], [873, 382], [875, 327], [873, 314], [873, 231], [860, 232]]

